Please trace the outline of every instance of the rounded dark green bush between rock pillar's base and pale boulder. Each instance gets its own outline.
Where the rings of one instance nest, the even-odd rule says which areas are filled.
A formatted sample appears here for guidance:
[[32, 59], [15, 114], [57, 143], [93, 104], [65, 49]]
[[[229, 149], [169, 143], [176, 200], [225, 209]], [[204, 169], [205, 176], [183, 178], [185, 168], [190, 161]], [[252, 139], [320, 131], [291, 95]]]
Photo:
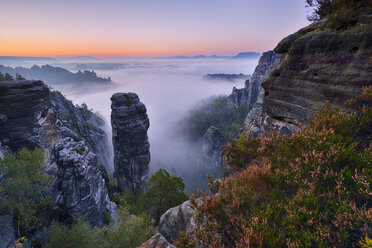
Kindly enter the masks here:
[[150, 216], [158, 222], [165, 211], [186, 201], [184, 188], [181, 177], [171, 176], [166, 170], [159, 169], [151, 176], [149, 189], [144, 194]]

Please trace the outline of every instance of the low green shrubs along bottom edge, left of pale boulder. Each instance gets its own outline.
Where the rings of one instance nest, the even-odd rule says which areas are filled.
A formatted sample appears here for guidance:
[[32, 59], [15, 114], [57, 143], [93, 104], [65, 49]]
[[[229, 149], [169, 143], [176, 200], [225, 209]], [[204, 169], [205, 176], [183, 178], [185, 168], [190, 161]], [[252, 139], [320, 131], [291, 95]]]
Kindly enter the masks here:
[[148, 240], [154, 233], [149, 217], [131, 216], [126, 208], [119, 209], [118, 223], [94, 228], [83, 219], [72, 226], [53, 223], [49, 233], [50, 248], [131, 248]]

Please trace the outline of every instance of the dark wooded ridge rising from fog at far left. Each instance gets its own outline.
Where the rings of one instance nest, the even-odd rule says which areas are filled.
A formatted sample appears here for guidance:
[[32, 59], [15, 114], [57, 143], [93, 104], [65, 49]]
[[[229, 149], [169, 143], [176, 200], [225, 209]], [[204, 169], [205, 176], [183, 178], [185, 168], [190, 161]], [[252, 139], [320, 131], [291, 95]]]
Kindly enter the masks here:
[[0, 72], [9, 73], [15, 76], [16, 73], [22, 75], [22, 77], [32, 80], [42, 80], [46, 84], [73, 84], [81, 82], [90, 83], [109, 83], [111, 78], [98, 77], [94, 71], [78, 71], [76, 73], [70, 72], [61, 67], [53, 67], [50, 65], [37, 66], [34, 65], [31, 68], [24, 67], [9, 67], [0, 65]]

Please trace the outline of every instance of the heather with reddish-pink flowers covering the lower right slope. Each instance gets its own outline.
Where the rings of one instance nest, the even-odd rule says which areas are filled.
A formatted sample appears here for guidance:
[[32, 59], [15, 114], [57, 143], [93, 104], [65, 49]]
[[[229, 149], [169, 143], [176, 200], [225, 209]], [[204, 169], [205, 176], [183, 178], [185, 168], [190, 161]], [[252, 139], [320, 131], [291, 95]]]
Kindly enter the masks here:
[[204, 195], [198, 227], [177, 247], [358, 247], [372, 237], [371, 90], [354, 112], [326, 104], [291, 137], [229, 144], [240, 171]]

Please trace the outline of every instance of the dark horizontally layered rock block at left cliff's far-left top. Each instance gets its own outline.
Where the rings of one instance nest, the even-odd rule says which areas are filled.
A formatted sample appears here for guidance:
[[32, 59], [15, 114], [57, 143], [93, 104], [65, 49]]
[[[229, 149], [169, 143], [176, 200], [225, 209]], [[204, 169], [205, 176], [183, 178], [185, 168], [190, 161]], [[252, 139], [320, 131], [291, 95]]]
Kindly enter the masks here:
[[[0, 142], [12, 151], [40, 143], [38, 122], [49, 95], [41, 81], [0, 82]], [[2, 123], [2, 124], [1, 124]]]

